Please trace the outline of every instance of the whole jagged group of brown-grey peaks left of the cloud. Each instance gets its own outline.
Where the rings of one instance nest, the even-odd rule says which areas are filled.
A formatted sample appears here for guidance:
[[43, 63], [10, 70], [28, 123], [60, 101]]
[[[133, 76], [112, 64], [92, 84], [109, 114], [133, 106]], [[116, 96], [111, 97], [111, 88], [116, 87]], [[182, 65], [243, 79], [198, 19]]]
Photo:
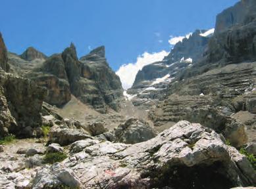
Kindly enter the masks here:
[[61, 107], [74, 95], [101, 113], [108, 108], [118, 111], [122, 85], [105, 59], [105, 47], [80, 60], [74, 44], [49, 58], [34, 48], [28, 48], [21, 57], [9, 53], [12, 72], [45, 87], [45, 102]]

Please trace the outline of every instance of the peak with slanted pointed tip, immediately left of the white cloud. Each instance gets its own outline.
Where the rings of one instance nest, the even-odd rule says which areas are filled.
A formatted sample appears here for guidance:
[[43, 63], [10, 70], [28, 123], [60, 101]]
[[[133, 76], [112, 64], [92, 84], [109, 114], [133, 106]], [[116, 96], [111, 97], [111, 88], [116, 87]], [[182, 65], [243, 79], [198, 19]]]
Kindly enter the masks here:
[[105, 59], [105, 47], [91, 51], [87, 56], [80, 58], [80, 61], [82, 62], [81, 82], [84, 86], [76, 91], [80, 93], [77, 96], [100, 111], [106, 111], [107, 107], [103, 104], [118, 110], [120, 108], [118, 101], [123, 91], [122, 84]]

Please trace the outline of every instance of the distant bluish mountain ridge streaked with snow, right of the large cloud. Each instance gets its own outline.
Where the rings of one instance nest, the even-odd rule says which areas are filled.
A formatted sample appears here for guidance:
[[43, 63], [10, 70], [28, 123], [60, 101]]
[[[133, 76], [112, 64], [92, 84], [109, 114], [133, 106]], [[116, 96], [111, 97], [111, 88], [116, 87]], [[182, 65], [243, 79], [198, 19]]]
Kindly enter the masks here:
[[128, 93], [141, 99], [165, 98], [165, 89], [176, 74], [192, 66], [193, 62], [203, 56], [212, 35], [211, 32], [205, 35], [205, 32], [207, 31], [196, 30], [188, 39], [184, 38], [177, 43], [163, 61], [144, 66], [136, 75], [134, 85]]

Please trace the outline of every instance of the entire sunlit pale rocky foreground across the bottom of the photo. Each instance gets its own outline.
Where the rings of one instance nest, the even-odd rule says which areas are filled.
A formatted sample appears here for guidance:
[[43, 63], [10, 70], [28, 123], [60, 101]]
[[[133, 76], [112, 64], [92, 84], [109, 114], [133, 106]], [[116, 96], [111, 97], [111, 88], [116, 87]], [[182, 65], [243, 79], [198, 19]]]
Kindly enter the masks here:
[[[61, 136], [63, 130], [51, 132]], [[222, 135], [188, 121], [137, 144], [95, 137], [75, 139], [78, 141], [64, 148], [26, 142], [27, 147], [11, 156], [11, 148], [4, 147], [0, 188], [219, 189], [256, 184], [256, 172], [245, 156], [226, 145]], [[53, 165], [43, 162], [45, 152], [63, 150], [68, 156], [64, 161]]]

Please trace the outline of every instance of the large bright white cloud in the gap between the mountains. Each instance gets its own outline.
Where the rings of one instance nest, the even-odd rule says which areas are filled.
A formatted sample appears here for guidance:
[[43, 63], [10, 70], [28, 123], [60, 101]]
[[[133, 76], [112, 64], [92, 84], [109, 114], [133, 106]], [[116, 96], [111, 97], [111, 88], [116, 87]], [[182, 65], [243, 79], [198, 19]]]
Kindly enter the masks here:
[[167, 55], [168, 52], [166, 51], [152, 54], [145, 52], [138, 56], [137, 62], [122, 65], [116, 72], [116, 75], [120, 77], [122, 87], [124, 89], [129, 89], [132, 87], [136, 74], [143, 68], [143, 66], [161, 61]]

